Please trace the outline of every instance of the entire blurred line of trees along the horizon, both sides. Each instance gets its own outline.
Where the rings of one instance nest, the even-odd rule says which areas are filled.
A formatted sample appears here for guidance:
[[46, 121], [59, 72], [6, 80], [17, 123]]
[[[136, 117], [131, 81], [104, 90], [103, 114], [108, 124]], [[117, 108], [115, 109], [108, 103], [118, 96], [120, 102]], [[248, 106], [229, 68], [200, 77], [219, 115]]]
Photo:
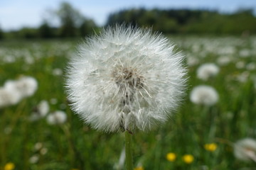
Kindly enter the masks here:
[[[0, 39], [10, 38], [74, 38], [97, 33], [100, 26], [87, 18], [71, 4], [63, 2], [55, 11], [48, 12], [38, 28], [1, 30]], [[53, 26], [56, 18], [59, 26]], [[256, 33], [256, 16], [252, 9], [240, 9], [235, 13], [220, 13], [210, 10], [146, 9], [130, 8], [110, 13], [105, 26], [129, 23], [140, 27], [150, 27], [166, 34], [213, 34], [242, 35]], [[0, 23], [1, 24], [1, 23]]]

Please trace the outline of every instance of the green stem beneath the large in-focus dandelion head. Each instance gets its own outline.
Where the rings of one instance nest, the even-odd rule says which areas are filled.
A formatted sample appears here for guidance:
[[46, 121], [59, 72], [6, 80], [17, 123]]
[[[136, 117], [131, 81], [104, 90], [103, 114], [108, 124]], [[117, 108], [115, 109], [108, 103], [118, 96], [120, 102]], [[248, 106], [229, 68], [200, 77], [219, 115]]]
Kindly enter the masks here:
[[133, 170], [132, 166], [132, 135], [125, 131], [125, 166], [127, 170]]

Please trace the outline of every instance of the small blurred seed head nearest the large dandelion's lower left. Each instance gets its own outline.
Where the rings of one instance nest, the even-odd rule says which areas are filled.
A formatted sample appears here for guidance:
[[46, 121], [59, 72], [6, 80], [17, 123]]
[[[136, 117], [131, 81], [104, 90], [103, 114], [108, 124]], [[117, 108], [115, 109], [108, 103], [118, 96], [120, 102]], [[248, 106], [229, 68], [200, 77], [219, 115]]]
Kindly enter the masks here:
[[46, 120], [49, 125], [63, 124], [67, 120], [67, 115], [63, 111], [55, 111], [54, 113], [50, 113]]

